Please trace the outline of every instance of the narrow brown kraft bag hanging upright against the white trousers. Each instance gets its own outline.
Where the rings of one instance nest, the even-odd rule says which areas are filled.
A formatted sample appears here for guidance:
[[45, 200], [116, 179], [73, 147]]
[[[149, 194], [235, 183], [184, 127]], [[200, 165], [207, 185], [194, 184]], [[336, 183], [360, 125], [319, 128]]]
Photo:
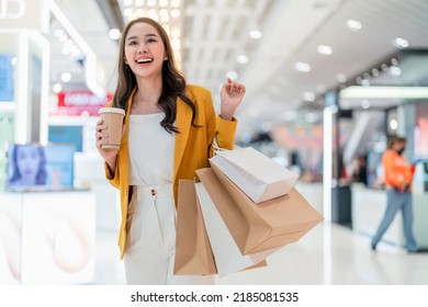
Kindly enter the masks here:
[[173, 273], [176, 275], [217, 273], [193, 180], [179, 182]]

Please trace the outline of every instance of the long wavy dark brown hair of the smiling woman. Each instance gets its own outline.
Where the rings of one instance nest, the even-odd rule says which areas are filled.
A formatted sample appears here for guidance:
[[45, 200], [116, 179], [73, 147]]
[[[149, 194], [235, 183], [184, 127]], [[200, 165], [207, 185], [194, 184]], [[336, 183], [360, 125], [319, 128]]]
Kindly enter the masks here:
[[125, 64], [125, 39], [129, 31], [129, 27], [135, 23], [143, 22], [153, 25], [159, 33], [160, 38], [164, 42], [165, 52], [168, 59], [162, 65], [162, 92], [160, 94], [158, 104], [159, 107], [165, 112], [165, 118], [160, 122], [160, 125], [168, 133], [179, 133], [178, 128], [173, 126], [177, 115], [177, 98], [184, 101], [185, 104], [192, 109], [192, 126], [198, 127], [194, 124], [196, 107], [193, 101], [184, 94], [187, 82], [184, 76], [176, 68], [174, 57], [169, 37], [164, 27], [156, 21], [148, 18], [138, 18], [126, 24], [122, 31], [120, 52], [117, 60], [117, 86], [114, 92], [113, 106], [127, 110], [127, 102], [132, 91], [137, 86], [137, 80], [134, 72]]

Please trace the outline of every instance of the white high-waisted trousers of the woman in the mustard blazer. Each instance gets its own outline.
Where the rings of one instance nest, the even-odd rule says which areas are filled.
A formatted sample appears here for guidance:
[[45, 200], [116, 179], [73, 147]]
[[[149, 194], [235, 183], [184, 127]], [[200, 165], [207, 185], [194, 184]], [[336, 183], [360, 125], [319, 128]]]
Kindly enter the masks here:
[[212, 285], [215, 276], [173, 275], [176, 206], [172, 185], [135, 186], [124, 257], [129, 285]]

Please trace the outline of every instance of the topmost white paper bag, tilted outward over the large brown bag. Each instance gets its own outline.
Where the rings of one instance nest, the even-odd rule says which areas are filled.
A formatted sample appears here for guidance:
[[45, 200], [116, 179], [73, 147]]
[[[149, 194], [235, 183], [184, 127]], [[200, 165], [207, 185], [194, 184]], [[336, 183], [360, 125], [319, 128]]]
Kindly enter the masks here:
[[216, 151], [210, 163], [221, 169], [255, 203], [285, 195], [299, 178], [251, 147]]

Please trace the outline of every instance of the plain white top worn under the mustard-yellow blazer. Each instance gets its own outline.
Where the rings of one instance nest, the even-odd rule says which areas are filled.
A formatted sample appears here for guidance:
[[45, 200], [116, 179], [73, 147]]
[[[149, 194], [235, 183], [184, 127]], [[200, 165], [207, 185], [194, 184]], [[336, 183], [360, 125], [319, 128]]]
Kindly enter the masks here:
[[160, 126], [164, 117], [165, 113], [129, 116], [131, 185], [172, 183], [176, 135]]

